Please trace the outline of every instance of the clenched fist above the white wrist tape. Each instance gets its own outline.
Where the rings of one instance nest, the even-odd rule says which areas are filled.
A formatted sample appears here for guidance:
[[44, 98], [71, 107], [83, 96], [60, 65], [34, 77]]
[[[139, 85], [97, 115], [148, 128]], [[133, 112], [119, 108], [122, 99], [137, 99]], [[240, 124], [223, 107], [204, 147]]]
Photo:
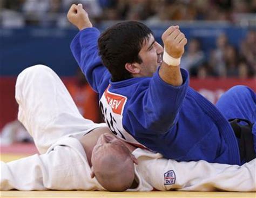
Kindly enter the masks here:
[[162, 35], [165, 51], [173, 58], [180, 58], [184, 53], [187, 39], [179, 26], [170, 26]]

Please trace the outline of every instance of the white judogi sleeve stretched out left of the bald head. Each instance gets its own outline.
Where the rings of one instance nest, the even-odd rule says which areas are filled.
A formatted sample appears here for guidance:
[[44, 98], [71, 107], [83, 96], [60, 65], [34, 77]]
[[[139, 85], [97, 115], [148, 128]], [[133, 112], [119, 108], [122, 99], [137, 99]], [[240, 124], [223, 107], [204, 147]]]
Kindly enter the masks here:
[[43, 155], [1, 162], [0, 189], [104, 190], [96, 178], [91, 179], [86, 155], [79, 152], [82, 145], [75, 138], [67, 140], [76, 148], [56, 145]]

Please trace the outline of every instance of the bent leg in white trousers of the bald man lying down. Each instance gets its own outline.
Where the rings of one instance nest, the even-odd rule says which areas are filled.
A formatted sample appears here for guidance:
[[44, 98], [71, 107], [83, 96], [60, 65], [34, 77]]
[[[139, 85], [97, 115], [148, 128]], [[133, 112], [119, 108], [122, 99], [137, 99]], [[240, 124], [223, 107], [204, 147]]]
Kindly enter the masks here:
[[49, 67], [36, 65], [21, 72], [16, 82], [18, 120], [33, 137], [40, 153], [60, 137], [96, 128], [79, 113], [68, 90]]

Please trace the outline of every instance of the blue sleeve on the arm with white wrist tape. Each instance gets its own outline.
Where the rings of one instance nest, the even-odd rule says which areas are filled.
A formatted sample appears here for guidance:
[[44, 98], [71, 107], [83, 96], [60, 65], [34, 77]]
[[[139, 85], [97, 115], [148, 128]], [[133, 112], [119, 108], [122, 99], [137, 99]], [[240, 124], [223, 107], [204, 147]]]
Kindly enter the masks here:
[[174, 87], [165, 83], [156, 72], [148, 88], [135, 91], [137, 97], [132, 97], [127, 106], [124, 127], [134, 136], [140, 136], [145, 133], [164, 134], [176, 125], [189, 84], [188, 72], [181, 69], [181, 75], [183, 84]]

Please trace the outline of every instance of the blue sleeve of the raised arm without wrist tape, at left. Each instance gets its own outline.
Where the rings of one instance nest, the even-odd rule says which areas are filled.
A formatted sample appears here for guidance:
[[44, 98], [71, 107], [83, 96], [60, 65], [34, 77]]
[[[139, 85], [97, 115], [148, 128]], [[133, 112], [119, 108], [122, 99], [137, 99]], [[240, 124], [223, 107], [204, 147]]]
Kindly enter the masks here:
[[78, 32], [70, 48], [88, 83], [94, 91], [102, 94], [109, 84], [110, 73], [98, 55], [99, 35], [96, 28], [86, 28]]

